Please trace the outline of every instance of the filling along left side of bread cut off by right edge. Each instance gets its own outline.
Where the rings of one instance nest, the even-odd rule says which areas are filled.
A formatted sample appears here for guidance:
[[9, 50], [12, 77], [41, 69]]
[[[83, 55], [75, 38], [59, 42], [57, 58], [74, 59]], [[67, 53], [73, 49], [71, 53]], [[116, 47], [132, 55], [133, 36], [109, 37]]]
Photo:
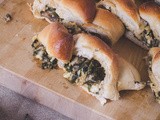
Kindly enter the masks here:
[[[148, 56], [147, 63], [149, 64], [149, 68], [148, 68], [149, 73], [153, 74], [152, 73], [152, 57], [151, 56]], [[155, 79], [155, 78], [153, 78], [153, 79]], [[154, 92], [154, 96], [155, 96], [156, 100], [160, 103], [160, 91], [157, 90], [156, 84], [154, 84], [152, 81], [150, 81], [149, 85]]]

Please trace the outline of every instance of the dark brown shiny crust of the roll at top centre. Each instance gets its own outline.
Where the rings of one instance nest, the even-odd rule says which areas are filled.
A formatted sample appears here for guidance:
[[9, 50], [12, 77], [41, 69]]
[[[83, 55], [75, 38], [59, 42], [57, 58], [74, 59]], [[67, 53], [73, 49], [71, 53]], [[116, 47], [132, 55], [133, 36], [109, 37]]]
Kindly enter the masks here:
[[62, 0], [62, 4], [72, 11], [79, 14], [84, 22], [92, 22], [96, 14], [94, 0]]

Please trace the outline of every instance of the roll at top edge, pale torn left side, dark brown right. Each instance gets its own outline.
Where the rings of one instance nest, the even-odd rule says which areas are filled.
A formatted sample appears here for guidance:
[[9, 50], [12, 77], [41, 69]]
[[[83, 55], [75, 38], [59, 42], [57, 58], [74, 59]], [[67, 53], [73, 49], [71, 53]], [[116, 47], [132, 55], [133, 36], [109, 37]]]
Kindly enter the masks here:
[[93, 0], [34, 0], [32, 12], [50, 23], [64, 19], [81, 24], [93, 21], [96, 6]]

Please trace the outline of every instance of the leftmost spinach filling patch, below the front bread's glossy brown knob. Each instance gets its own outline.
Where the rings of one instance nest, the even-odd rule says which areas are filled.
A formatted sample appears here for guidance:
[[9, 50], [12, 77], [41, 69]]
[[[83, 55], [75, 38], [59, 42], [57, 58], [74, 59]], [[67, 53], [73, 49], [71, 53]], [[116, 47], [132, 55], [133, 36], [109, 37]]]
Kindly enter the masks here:
[[50, 57], [45, 47], [35, 39], [32, 43], [33, 56], [38, 60], [42, 69], [53, 69], [57, 67], [57, 59]]

